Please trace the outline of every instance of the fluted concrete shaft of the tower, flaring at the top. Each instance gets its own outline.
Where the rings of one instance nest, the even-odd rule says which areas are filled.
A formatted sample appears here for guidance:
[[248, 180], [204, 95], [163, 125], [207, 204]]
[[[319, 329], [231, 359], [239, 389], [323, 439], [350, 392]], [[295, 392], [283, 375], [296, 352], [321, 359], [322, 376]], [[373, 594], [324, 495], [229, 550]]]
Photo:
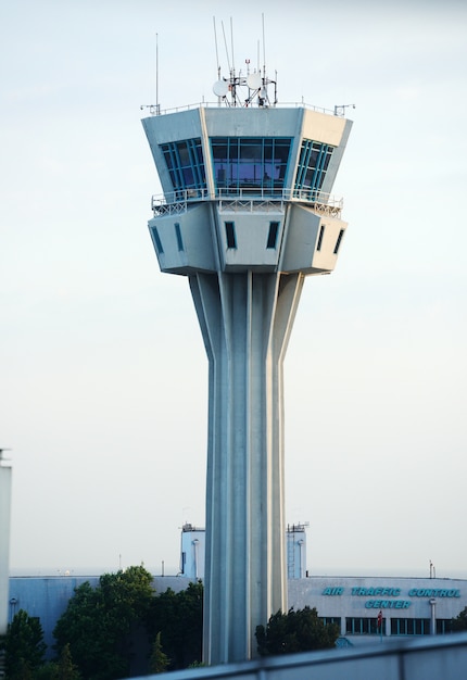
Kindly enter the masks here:
[[287, 610], [283, 357], [302, 274], [197, 274], [210, 365], [204, 660], [256, 655]]

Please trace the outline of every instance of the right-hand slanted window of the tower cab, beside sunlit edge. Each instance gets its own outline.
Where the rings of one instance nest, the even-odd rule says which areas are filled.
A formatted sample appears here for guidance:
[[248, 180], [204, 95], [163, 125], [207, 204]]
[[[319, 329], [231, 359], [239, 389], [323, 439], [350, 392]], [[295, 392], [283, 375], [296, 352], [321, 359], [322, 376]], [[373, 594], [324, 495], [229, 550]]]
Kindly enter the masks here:
[[313, 201], [319, 197], [333, 150], [335, 147], [312, 139], [302, 141], [294, 186], [296, 198]]

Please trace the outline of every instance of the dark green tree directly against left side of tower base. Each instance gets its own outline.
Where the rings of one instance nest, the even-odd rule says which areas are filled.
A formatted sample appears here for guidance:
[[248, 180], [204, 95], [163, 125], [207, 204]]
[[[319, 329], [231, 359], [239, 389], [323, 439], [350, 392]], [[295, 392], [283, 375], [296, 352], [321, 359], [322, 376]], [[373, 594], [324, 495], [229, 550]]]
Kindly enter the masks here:
[[203, 585], [190, 583], [175, 593], [168, 588], [154, 597], [148, 616], [148, 628], [154, 638], [162, 631], [164, 651], [171, 658], [169, 669], [187, 668], [201, 662], [203, 638]]

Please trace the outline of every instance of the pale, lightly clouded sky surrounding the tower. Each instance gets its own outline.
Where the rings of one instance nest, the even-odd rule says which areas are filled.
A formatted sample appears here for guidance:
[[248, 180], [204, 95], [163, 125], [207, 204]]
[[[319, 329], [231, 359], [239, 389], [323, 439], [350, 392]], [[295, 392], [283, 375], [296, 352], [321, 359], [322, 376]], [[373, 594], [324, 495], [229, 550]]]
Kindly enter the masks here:
[[13, 570], [174, 574], [179, 527], [204, 526], [207, 362], [188, 281], [159, 272], [148, 235], [139, 106], [155, 34], [162, 109], [213, 101], [213, 16], [232, 17], [241, 67], [262, 12], [280, 101], [356, 104], [344, 247], [305, 282], [286, 360], [287, 521], [310, 521], [312, 574], [429, 576], [431, 559], [467, 578], [467, 4], [446, 0], [2, 3]]

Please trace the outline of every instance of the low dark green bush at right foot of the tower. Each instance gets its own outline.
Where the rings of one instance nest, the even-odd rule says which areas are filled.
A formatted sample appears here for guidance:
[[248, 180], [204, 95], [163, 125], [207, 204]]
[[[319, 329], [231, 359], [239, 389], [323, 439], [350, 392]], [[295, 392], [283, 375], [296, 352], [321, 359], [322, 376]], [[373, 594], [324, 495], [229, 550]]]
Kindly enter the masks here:
[[326, 650], [336, 645], [339, 626], [325, 626], [316, 608], [289, 609], [288, 614], [273, 614], [264, 626], [257, 626], [257, 651], [262, 656], [293, 654], [311, 650]]

